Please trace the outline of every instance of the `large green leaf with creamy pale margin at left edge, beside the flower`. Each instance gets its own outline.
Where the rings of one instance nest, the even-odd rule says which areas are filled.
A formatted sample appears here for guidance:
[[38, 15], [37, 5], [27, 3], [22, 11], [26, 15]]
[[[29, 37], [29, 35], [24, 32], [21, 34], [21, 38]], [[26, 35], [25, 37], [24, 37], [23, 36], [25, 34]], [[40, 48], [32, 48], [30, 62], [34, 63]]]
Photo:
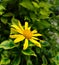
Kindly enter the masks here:
[[15, 47], [15, 44], [13, 43], [12, 40], [6, 40], [6, 41], [3, 41], [1, 44], [0, 44], [0, 48], [3, 48], [3, 49], [12, 49]]

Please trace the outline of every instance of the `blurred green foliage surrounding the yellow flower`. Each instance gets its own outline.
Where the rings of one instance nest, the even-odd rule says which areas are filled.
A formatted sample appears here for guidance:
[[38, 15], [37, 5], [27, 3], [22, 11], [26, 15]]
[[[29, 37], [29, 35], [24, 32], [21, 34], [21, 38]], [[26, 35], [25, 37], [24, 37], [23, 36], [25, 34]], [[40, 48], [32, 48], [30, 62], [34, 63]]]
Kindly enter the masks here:
[[[16, 20], [43, 34], [41, 49], [15, 47], [9, 34]], [[59, 0], [0, 0], [0, 65], [59, 65]]]

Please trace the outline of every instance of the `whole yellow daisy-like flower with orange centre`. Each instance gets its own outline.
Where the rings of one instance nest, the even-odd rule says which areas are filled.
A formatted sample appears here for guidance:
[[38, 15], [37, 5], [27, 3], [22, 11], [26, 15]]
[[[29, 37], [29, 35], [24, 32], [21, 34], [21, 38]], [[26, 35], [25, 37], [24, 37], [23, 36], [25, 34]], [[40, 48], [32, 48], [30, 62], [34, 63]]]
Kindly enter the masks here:
[[11, 25], [13, 31], [18, 32], [17, 34], [10, 34], [10, 38], [14, 38], [14, 43], [18, 43], [25, 39], [23, 50], [28, 48], [28, 41], [34, 43], [34, 45], [41, 48], [41, 44], [37, 41], [39, 40], [37, 36], [42, 36], [42, 34], [37, 33], [36, 30], [31, 31], [31, 27], [28, 27], [28, 22], [25, 22], [25, 29], [22, 27], [20, 21], [18, 21], [18, 26], [16, 24]]

